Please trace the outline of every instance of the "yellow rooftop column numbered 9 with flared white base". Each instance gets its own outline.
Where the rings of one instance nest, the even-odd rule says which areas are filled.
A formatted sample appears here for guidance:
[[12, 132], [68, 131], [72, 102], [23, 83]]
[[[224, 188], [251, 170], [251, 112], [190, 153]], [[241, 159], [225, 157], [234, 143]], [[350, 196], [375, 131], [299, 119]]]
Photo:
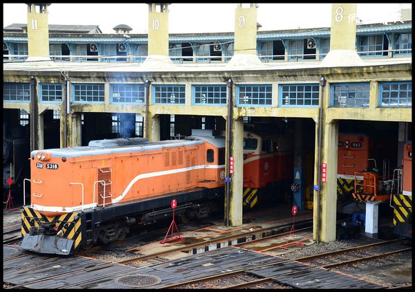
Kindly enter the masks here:
[[262, 64], [257, 56], [257, 6], [249, 8], [237, 4], [235, 10], [234, 55], [228, 66], [252, 66]]

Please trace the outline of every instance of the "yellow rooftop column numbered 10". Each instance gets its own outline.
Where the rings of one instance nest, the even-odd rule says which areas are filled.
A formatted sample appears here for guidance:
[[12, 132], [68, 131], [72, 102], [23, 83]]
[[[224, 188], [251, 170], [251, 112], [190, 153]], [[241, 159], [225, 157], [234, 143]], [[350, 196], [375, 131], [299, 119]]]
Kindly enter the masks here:
[[[160, 12], [156, 11], [160, 7]], [[149, 4], [148, 55], [169, 55], [169, 6], [166, 3]]]

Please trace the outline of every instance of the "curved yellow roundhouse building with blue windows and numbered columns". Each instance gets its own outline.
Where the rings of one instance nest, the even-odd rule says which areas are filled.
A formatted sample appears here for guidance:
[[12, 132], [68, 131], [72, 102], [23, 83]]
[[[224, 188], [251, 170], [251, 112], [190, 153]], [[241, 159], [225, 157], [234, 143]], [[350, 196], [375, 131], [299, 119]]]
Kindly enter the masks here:
[[412, 19], [357, 25], [356, 3], [335, 3], [331, 28], [259, 31], [257, 6], [235, 4], [234, 32], [169, 34], [168, 15], [149, 4], [148, 34], [104, 34], [49, 25], [48, 5], [29, 3], [27, 25], [3, 28], [5, 136], [26, 128], [30, 149], [47, 149], [222, 130], [235, 169], [225, 217], [239, 226], [243, 129], [286, 129], [299, 185], [288, 196], [313, 208], [317, 241], [335, 240], [340, 133], [386, 136], [391, 165], [412, 140]]

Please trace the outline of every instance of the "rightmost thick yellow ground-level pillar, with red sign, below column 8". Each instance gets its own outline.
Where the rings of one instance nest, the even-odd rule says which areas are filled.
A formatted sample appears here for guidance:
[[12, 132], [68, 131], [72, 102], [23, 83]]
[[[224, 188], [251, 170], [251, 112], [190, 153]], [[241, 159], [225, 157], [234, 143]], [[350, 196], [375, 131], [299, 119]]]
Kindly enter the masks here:
[[[328, 87], [328, 86], [327, 86]], [[317, 185], [317, 157], [318, 136], [316, 127], [315, 138], [315, 174], [314, 185]], [[317, 208], [313, 209], [313, 237], [317, 240], [317, 225], [319, 229], [319, 241], [335, 241], [335, 221], [337, 209], [337, 169], [338, 169], [338, 122], [322, 122], [322, 163], [326, 163], [326, 183], [320, 183], [320, 214]], [[314, 192], [313, 206], [317, 206], [317, 192]], [[317, 220], [318, 224], [317, 224]]]

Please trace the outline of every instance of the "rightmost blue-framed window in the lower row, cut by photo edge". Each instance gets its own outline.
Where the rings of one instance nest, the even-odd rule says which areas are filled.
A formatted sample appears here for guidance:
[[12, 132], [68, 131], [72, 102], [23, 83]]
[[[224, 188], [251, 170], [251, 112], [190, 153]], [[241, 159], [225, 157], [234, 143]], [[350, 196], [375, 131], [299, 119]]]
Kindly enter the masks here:
[[412, 107], [412, 82], [380, 83], [381, 107]]

